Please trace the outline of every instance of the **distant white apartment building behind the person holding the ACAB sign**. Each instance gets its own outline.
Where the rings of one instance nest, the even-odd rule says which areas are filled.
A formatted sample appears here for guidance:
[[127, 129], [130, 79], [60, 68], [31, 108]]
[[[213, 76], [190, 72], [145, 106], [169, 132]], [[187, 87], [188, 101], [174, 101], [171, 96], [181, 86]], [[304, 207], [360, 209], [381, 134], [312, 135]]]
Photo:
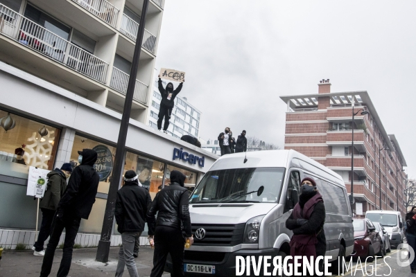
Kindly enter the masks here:
[[[153, 75], [155, 76], [155, 82], [153, 82], [153, 92], [150, 100], [151, 106], [149, 102], [150, 109], [148, 120], [149, 126], [153, 127], [154, 129], [157, 129], [157, 115], [159, 114], [160, 101], [162, 100], [162, 96], [160, 95], [158, 89], [157, 81], [159, 80], [159, 78], [157, 78], [157, 72], [157, 69], [155, 69], [155, 73], [153, 73]], [[163, 87], [166, 87], [166, 84], [168, 84], [168, 82], [169, 81], [162, 79]], [[179, 85], [178, 82], [172, 83], [174, 89], [176, 89]], [[198, 138], [200, 129], [200, 118], [202, 113], [200, 112], [200, 110], [196, 109], [196, 107], [191, 105], [186, 97], [181, 96], [181, 93], [183, 93], [183, 91], [187, 89], [186, 87], [187, 84], [184, 83], [182, 91], [175, 98], [175, 107], [173, 107], [171, 120], [169, 120], [171, 123], [168, 127], [168, 134], [179, 139], [185, 134]], [[162, 122], [162, 129], [163, 123], [164, 122]]]

